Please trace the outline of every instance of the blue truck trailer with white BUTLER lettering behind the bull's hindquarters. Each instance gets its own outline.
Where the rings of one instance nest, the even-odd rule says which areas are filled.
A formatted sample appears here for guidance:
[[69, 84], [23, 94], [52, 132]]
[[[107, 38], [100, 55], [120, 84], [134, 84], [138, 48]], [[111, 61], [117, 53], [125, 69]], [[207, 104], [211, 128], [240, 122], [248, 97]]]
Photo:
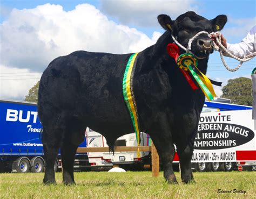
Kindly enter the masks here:
[[[43, 172], [41, 131], [36, 103], [0, 100], [0, 171]], [[86, 140], [80, 147], [86, 147]], [[87, 154], [77, 154], [74, 167], [90, 168]], [[60, 154], [55, 168], [61, 168]]]

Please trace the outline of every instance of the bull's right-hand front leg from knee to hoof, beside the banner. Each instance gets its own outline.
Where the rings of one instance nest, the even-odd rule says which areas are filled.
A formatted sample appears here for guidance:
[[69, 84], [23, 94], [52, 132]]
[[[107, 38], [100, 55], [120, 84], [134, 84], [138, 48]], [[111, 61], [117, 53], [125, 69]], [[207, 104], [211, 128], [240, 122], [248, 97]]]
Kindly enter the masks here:
[[187, 145], [185, 150], [181, 152], [179, 151], [179, 148], [177, 148], [177, 152], [179, 155], [182, 182], [184, 183], [194, 182], [192, 169], [191, 169], [193, 147], [190, 145]]

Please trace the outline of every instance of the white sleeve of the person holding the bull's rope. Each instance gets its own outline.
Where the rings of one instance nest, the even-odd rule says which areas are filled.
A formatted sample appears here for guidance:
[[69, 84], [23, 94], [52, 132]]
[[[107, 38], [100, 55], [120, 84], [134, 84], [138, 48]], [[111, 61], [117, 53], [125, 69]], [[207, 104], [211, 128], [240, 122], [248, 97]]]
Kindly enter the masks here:
[[246, 55], [255, 52], [256, 26], [254, 26], [247, 36], [238, 44], [228, 44], [227, 49], [235, 56], [244, 58]]

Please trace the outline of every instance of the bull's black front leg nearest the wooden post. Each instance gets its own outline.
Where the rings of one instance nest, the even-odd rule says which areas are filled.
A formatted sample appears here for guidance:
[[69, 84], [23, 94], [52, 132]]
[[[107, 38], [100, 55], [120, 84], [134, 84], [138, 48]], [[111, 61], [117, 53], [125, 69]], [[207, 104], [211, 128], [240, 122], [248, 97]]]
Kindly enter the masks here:
[[163, 164], [165, 180], [169, 183], [177, 183], [177, 179], [172, 168], [172, 161], [175, 154], [172, 139], [159, 138], [158, 136], [151, 136], [151, 138]]

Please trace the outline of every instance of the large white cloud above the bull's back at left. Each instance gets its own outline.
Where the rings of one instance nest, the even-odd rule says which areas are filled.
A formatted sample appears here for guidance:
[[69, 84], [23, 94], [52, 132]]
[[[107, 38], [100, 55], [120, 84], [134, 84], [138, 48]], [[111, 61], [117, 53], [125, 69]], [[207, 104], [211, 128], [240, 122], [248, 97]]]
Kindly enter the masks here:
[[[42, 72], [58, 56], [77, 50], [109, 53], [139, 52], [160, 37], [118, 25], [90, 4], [64, 11], [60, 5], [13, 9], [0, 25], [1, 71]], [[3, 73], [3, 72], [1, 72]], [[6, 72], [5, 72], [6, 73]], [[37, 80], [0, 80], [1, 98], [21, 98]]]

